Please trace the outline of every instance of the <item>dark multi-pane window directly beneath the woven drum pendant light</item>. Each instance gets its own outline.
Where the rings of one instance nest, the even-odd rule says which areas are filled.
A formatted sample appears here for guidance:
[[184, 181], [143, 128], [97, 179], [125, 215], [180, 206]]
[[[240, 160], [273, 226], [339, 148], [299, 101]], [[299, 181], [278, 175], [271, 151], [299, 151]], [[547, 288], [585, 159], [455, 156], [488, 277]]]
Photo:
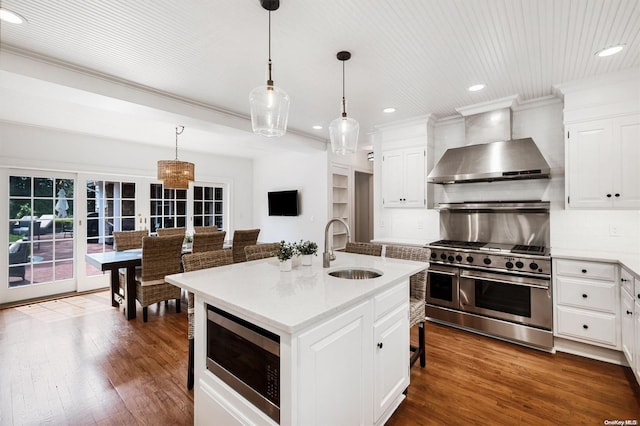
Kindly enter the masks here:
[[161, 183], [151, 184], [151, 232], [158, 228], [187, 226], [187, 190], [164, 189]]

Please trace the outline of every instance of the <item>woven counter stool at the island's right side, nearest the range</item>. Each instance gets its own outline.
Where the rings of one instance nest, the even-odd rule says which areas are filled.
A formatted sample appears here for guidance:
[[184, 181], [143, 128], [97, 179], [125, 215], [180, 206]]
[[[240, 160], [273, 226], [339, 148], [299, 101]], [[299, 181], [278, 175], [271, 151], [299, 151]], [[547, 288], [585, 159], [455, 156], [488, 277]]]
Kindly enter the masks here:
[[[385, 257], [394, 259], [429, 261], [429, 250], [423, 247], [387, 246]], [[420, 358], [420, 367], [426, 365], [424, 342], [425, 305], [427, 295], [427, 271], [423, 270], [409, 278], [409, 328], [418, 325], [418, 346], [410, 346], [411, 358], [409, 365], [413, 366]]]

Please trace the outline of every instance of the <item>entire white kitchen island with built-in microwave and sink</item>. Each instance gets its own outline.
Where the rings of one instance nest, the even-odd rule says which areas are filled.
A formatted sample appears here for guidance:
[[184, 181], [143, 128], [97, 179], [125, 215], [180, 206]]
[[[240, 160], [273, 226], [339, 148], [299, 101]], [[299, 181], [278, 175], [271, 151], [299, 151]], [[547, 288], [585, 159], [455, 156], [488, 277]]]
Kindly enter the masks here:
[[[280, 272], [278, 260], [271, 258], [166, 278], [195, 294], [196, 424], [373, 425], [388, 420], [409, 384], [409, 277], [428, 264], [336, 255], [326, 269], [316, 257], [311, 266]], [[382, 275], [364, 280], [329, 275], [346, 268]], [[208, 354], [221, 350], [208, 336], [212, 309], [278, 341], [277, 398], [270, 398], [277, 414], [250, 402], [255, 395], [247, 398], [234, 390], [226, 373], [214, 373]], [[245, 357], [235, 359], [240, 358]], [[273, 397], [273, 384], [268, 387]]]

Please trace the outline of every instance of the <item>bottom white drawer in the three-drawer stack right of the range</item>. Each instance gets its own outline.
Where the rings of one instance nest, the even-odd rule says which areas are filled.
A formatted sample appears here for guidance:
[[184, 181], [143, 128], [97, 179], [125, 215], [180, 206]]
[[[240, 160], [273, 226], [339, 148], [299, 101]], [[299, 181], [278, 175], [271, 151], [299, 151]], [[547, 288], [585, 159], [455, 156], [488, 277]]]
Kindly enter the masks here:
[[558, 306], [556, 333], [600, 346], [618, 346], [616, 316], [601, 312]]

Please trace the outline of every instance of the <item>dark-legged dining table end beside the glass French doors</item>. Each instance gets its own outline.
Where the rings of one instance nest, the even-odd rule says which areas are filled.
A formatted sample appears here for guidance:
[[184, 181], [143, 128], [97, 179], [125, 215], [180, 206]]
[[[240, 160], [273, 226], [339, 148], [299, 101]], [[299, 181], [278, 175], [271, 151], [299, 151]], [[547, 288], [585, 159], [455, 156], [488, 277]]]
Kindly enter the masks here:
[[126, 269], [126, 285], [124, 286], [125, 317], [130, 320], [136, 317], [136, 266], [142, 265], [142, 249], [125, 251], [108, 251], [104, 253], [87, 253], [88, 264], [101, 271], [111, 272], [111, 306], [120, 306], [119, 269]]

